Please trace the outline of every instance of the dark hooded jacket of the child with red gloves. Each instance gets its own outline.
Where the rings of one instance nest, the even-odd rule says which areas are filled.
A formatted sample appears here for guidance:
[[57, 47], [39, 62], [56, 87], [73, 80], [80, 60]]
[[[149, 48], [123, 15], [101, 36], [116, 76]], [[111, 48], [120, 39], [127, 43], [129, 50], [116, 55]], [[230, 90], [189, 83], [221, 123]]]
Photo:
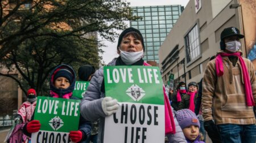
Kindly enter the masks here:
[[[72, 80], [72, 83], [70, 84], [70, 86], [67, 89], [57, 89], [54, 86], [54, 83], [53, 83], [54, 75], [57, 71], [59, 71], [60, 69], [63, 69], [63, 68], [72, 73], [73, 80]], [[76, 97], [72, 97], [72, 92], [75, 88], [75, 83], [76, 83], [76, 73], [75, 73], [75, 71], [73, 70], [73, 68], [71, 66], [68, 66], [67, 64], [60, 64], [59, 66], [54, 68], [51, 72], [49, 82], [50, 82], [50, 90], [51, 90], [50, 96], [51, 97], [53, 97], [55, 94], [57, 94], [59, 96], [59, 98], [62, 98], [65, 94], [70, 94], [71, 95], [71, 96], [69, 96], [70, 99], [79, 99], [79, 98], [76, 98]], [[32, 115], [31, 120], [34, 120], [34, 114]], [[82, 135], [83, 135], [82, 140], [80, 142], [85, 141], [86, 138], [90, 135], [90, 132], [92, 130], [91, 123], [89, 121], [85, 120], [84, 118], [82, 118], [82, 115], [80, 115], [79, 130], [82, 132]], [[24, 127], [23, 127], [23, 133], [26, 136], [31, 137], [31, 133], [27, 132], [27, 124], [25, 124]]]

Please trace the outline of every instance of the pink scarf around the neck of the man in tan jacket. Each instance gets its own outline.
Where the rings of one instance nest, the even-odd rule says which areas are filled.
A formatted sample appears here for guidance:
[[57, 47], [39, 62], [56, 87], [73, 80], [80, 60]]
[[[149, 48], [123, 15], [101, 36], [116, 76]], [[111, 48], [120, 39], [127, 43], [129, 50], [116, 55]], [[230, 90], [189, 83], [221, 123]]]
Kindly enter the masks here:
[[253, 92], [251, 91], [250, 76], [247, 71], [245, 61], [243, 61], [243, 58], [241, 57], [241, 53], [237, 52], [237, 53], [232, 53], [232, 54], [229, 54], [229, 53], [218, 54], [216, 57], [216, 60], [215, 60], [217, 76], [222, 76], [224, 74], [222, 57], [226, 57], [226, 56], [229, 57], [232, 55], [237, 56], [240, 61], [240, 64], [241, 64], [241, 68], [242, 68], [241, 70], [243, 73], [243, 81], [244, 81], [244, 86], [245, 86], [246, 105], [247, 106], [255, 106], [254, 99], [253, 99]]

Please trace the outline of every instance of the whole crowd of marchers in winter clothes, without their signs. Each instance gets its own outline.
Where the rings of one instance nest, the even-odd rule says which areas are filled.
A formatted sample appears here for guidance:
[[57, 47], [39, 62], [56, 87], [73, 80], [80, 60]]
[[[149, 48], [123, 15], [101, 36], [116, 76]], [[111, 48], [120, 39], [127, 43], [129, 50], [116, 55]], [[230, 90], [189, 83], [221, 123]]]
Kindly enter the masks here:
[[[168, 142], [205, 142], [205, 131], [212, 142], [256, 142], [253, 111], [256, 77], [250, 60], [241, 57], [240, 38], [243, 37], [235, 27], [225, 28], [221, 33], [220, 51], [210, 59], [199, 83], [187, 85], [181, 81], [169, 95], [164, 87], [160, 91], [164, 95]], [[150, 66], [143, 60], [144, 51], [141, 32], [127, 28], [118, 39], [119, 57], [107, 66]], [[90, 81], [90, 84], [80, 103], [79, 129], [69, 132], [73, 142], [103, 142], [104, 120], [119, 109], [117, 99], [105, 97], [103, 67], [94, 71], [95, 68], [89, 65], [81, 66], [78, 71], [79, 80]], [[76, 73], [71, 66], [57, 66], [49, 79], [49, 97], [76, 99], [72, 96], [75, 82]], [[27, 99], [15, 120], [22, 124], [26, 135], [23, 138], [30, 140], [31, 133], [38, 132], [41, 127], [33, 115], [34, 89], [28, 90]]]

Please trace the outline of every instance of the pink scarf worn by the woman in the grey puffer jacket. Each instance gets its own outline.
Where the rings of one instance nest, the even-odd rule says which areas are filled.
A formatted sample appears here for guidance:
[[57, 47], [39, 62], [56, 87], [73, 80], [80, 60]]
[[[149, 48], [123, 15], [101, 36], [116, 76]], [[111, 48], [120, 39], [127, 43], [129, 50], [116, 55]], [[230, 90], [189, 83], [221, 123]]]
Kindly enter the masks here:
[[[143, 66], [151, 66], [150, 64], [144, 62]], [[175, 131], [175, 122], [174, 122], [174, 116], [172, 115], [172, 109], [170, 105], [170, 101], [166, 95], [166, 88], [163, 86], [163, 93], [164, 93], [164, 118], [165, 118], [165, 129], [166, 129], [166, 135], [169, 133], [174, 134]]]

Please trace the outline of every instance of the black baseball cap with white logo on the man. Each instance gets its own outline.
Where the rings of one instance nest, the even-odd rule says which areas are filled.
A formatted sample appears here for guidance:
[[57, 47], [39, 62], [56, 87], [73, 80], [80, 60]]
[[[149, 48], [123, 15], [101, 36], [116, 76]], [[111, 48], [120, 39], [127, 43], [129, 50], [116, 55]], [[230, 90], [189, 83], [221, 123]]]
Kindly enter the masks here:
[[236, 27], [228, 27], [228, 28], [225, 28], [221, 32], [221, 40], [222, 41], [224, 40], [224, 38], [229, 37], [229, 36], [238, 36], [239, 38], [245, 37], [240, 33], [240, 30]]

